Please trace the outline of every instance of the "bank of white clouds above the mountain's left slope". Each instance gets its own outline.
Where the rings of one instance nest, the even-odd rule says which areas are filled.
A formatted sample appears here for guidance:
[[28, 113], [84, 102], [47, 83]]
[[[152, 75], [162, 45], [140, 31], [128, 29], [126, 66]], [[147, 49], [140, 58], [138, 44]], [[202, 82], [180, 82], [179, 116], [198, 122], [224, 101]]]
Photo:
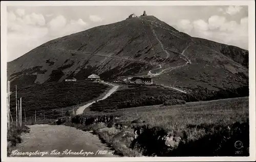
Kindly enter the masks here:
[[13, 12], [8, 12], [8, 27], [8, 60], [13, 60], [42, 43], [86, 30], [88, 25], [81, 18], [68, 21], [62, 15], [52, 18], [45, 25], [41, 14], [32, 13], [20, 18]]

